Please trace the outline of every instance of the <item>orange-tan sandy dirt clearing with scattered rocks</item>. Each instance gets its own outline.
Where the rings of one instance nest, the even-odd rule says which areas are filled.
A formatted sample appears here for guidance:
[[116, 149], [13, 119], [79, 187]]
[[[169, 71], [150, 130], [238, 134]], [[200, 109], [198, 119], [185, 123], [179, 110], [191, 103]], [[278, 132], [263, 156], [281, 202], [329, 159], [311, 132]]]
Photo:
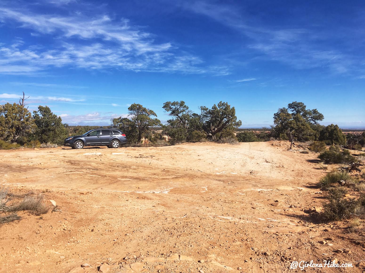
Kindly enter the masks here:
[[[354, 267], [306, 271], [362, 272], [364, 238], [349, 236], [345, 223], [313, 223], [302, 211], [324, 202], [313, 187], [326, 173], [317, 155], [287, 147], [0, 151], [1, 185], [43, 192], [60, 209], [20, 212], [20, 221], [0, 226], [0, 271], [97, 272], [108, 264], [112, 273], [301, 272], [289, 269], [293, 260], [337, 258]], [[328, 237], [329, 245], [318, 243]]]

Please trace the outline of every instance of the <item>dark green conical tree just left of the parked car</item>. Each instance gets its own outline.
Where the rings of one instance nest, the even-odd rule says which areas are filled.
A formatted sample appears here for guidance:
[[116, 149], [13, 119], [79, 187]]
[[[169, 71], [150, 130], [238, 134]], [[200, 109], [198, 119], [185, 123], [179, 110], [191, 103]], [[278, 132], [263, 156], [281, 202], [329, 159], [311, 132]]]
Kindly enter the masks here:
[[38, 106], [38, 111], [33, 111], [34, 123], [37, 128], [34, 138], [42, 143], [62, 144], [67, 136], [66, 128], [61, 117], [53, 114], [48, 106]]

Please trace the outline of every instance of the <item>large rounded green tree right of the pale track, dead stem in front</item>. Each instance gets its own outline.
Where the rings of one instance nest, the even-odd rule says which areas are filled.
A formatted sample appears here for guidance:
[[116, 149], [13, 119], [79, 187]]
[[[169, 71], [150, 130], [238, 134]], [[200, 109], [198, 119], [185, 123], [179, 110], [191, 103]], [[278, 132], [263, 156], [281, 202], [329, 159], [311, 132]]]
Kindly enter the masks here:
[[[288, 139], [288, 132], [299, 141], [314, 140], [322, 127], [318, 124], [323, 115], [317, 109], [307, 109], [303, 102], [292, 102], [288, 107], [279, 108], [274, 114], [273, 135]], [[289, 130], [288, 130], [289, 129]]]

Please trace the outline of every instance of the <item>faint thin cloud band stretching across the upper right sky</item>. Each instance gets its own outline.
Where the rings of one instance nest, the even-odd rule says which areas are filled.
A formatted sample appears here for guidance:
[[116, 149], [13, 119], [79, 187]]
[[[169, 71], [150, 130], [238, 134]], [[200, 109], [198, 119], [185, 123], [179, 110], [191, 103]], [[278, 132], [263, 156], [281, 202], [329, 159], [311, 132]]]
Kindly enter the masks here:
[[194, 13], [234, 29], [248, 38], [247, 47], [264, 55], [257, 59], [283, 62], [297, 69], [322, 67], [336, 73], [346, 73], [357, 60], [335, 47], [321, 47], [325, 33], [313, 33], [305, 28], [262, 26], [254, 17], [237, 6], [211, 1], [181, 1], [180, 5]]

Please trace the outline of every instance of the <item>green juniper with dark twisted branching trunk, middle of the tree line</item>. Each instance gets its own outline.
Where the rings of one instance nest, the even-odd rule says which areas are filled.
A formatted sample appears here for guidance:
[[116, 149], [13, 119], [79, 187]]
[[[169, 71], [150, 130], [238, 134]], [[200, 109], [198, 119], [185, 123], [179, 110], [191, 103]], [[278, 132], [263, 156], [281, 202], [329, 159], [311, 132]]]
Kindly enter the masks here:
[[205, 106], [200, 107], [200, 120], [203, 124], [203, 130], [207, 133], [207, 137], [214, 141], [218, 140], [216, 134], [227, 128], [233, 131], [242, 125], [241, 120], [237, 120], [236, 110], [227, 102], [219, 102], [214, 104], [211, 109]]

